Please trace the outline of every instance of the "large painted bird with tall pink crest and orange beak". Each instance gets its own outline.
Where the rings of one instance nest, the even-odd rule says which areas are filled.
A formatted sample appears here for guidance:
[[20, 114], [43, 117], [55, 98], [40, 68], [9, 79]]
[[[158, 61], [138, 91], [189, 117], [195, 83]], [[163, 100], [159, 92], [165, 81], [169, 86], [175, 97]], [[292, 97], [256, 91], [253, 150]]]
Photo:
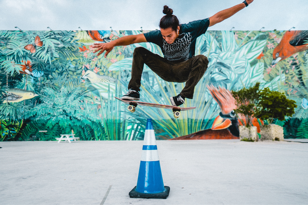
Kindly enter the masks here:
[[238, 119], [234, 112], [236, 105], [232, 94], [225, 88], [217, 89], [213, 85], [207, 87], [221, 109], [212, 128], [171, 140], [239, 139]]

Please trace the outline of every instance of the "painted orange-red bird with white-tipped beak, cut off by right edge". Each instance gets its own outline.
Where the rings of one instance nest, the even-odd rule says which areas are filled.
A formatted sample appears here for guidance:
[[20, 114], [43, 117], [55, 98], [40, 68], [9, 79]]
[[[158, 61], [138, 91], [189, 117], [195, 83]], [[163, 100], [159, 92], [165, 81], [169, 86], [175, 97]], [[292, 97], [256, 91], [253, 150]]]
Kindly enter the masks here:
[[279, 61], [282, 61], [297, 52], [307, 50], [307, 44], [304, 44], [305, 40], [308, 40], [308, 30], [287, 31], [273, 51], [272, 65], [275, 65]]

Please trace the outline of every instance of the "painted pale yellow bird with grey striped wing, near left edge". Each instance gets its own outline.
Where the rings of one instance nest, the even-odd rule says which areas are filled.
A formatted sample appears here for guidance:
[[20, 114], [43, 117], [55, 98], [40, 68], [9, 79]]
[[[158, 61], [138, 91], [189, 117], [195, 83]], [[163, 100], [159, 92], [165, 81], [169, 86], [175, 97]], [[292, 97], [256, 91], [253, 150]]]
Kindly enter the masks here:
[[23, 100], [31, 99], [35, 96], [39, 96], [39, 95], [35, 94], [33, 91], [23, 90], [23, 89], [18, 89], [18, 88], [11, 88], [8, 90], [7, 94], [3, 93], [2, 99], [5, 98], [3, 103], [6, 103], [6, 102], [15, 103], [15, 102], [20, 102]]

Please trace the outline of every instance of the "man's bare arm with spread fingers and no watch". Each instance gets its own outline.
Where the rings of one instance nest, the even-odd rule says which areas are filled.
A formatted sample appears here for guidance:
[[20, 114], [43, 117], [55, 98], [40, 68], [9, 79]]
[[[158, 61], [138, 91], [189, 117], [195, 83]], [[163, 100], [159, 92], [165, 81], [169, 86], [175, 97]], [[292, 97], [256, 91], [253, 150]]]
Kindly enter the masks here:
[[94, 45], [92, 45], [92, 47], [97, 48], [95, 51], [93, 51], [93, 53], [96, 53], [97, 51], [101, 50], [96, 56], [99, 56], [104, 51], [106, 51], [105, 57], [107, 57], [108, 53], [110, 53], [110, 51], [115, 46], [131, 45], [133, 43], [143, 43], [143, 42], [148, 42], [148, 41], [145, 39], [144, 34], [138, 34], [138, 35], [123, 36], [108, 43], [95, 43]]

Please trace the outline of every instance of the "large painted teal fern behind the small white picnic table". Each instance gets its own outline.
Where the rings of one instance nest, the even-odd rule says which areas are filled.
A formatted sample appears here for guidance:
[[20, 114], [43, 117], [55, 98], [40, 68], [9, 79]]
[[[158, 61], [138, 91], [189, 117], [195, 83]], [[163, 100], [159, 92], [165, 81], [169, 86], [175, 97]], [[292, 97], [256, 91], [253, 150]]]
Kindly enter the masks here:
[[[29, 135], [39, 136], [41, 140], [55, 140], [60, 134], [70, 134], [74, 131], [81, 140], [104, 140], [105, 133], [101, 119], [92, 113], [94, 104], [88, 104], [80, 96], [80, 88], [68, 92], [66, 87], [59, 91], [51, 88], [42, 90], [43, 103], [32, 108], [24, 114], [25, 119], [30, 119], [23, 138]], [[47, 130], [42, 134], [39, 130]]]

